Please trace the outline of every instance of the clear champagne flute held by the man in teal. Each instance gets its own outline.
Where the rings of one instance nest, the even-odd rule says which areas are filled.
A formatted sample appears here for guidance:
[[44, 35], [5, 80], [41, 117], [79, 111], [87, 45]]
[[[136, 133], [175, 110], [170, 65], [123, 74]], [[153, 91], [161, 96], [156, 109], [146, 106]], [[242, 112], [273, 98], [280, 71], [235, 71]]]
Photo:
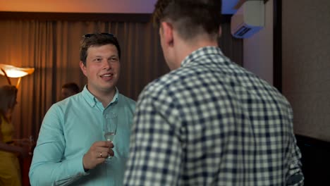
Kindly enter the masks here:
[[[104, 114], [104, 138], [106, 141], [113, 142], [114, 136], [117, 132], [117, 114], [116, 113], [106, 113]], [[106, 163], [112, 159], [112, 156], [106, 158]]]

